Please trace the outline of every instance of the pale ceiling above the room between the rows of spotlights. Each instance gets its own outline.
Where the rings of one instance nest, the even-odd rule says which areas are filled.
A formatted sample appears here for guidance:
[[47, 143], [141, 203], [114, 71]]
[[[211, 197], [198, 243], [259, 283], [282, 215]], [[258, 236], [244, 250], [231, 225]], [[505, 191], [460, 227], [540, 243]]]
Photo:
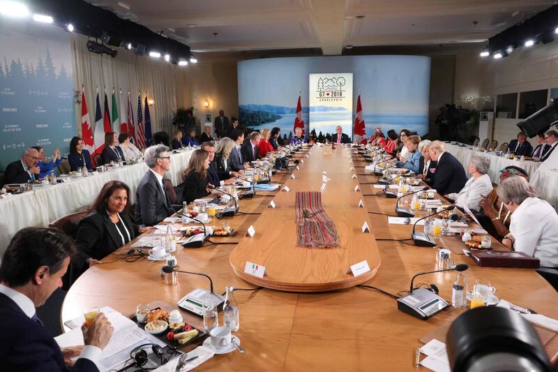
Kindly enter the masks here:
[[163, 31], [196, 53], [318, 47], [324, 55], [342, 54], [347, 45], [484, 43], [555, 3], [553, 0], [90, 2], [153, 31]]

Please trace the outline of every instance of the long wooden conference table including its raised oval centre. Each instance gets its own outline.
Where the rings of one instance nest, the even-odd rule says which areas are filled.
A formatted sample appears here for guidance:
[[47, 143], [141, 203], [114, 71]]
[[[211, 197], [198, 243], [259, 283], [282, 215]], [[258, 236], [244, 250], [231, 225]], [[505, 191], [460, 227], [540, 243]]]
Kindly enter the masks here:
[[[349, 163], [347, 151], [342, 147], [333, 150], [333, 155], [329, 156], [322, 154], [321, 148], [313, 149], [308, 158], [306, 154], [296, 155], [305, 163], [299, 164], [300, 170], [294, 171], [295, 179], [290, 178], [291, 174], [284, 173], [273, 177], [273, 181], [286, 181], [285, 185], [293, 190], [289, 195], [285, 191], [258, 191], [257, 197], [241, 200], [241, 211], [263, 214], [237, 214], [228, 220], [236, 231], [233, 237], [211, 238], [216, 243], [235, 241], [240, 242], [239, 245], [217, 244], [180, 249], [176, 254], [179, 269], [209, 274], [216, 292], [224, 292], [225, 285], [254, 288], [237, 275], [242, 275], [242, 260], [252, 258], [264, 261], [256, 262], [259, 265], [268, 264], [271, 267], [269, 276], [264, 276], [268, 283], [262, 282], [261, 285], [280, 288], [273, 283], [277, 278], [283, 283], [299, 286], [323, 284], [331, 280], [335, 288], [345, 289], [308, 293], [302, 292], [308, 288], [300, 289], [301, 292], [265, 288], [234, 292], [240, 309], [240, 329], [236, 334], [246, 348], [246, 354], [235, 351], [216, 355], [200, 370], [409, 371], [414, 369], [414, 349], [422, 345], [419, 338], [447, 325], [465, 311], [450, 307], [430, 320], [419, 320], [398, 311], [393, 298], [375, 290], [356, 287], [354, 284], [358, 281], [351, 281], [348, 274], [344, 276], [339, 271], [333, 272], [340, 267], [348, 269], [349, 263], [365, 258], [372, 269], [370, 276], [375, 274], [365, 284], [397, 295], [402, 290], [408, 290], [414, 274], [436, 269], [436, 250], [409, 246], [399, 241], [374, 241], [405, 239], [410, 235], [411, 226], [389, 224], [387, 217], [379, 214], [369, 214], [369, 217], [363, 214], [364, 210], [394, 214], [395, 201], [365, 196], [377, 191], [370, 184], [376, 181], [376, 177], [364, 174], [366, 163], [359, 161], [356, 154], [352, 157], [353, 163]], [[331, 165], [335, 165], [336, 170]], [[351, 179], [353, 172], [349, 168], [352, 166], [356, 168], [358, 179]], [[294, 247], [294, 191], [303, 190], [305, 185], [307, 190], [319, 187], [322, 168], [328, 171], [331, 178], [324, 191], [324, 209], [335, 222], [340, 247]], [[306, 172], [311, 176], [305, 176]], [[361, 191], [354, 191], [357, 183]], [[277, 210], [267, 211], [272, 199]], [[365, 209], [358, 207], [361, 199]], [[370, 234], [361, 231], [364, 221], [370, 225]], [[252, 238], [245, 236], [250, 225], [256, 229]], [[363, 246], [352, 249], [352, 244]], [[439, 244], [452, 248], [452, 258], [456, 263], [469, 265], [465, 271], [469, 289], [476, 279], [481, 278], [497, 288], [496, 295], [500, 299], [533, 308], [550, 318], [558, 318], [558, 293], [535, 271], [478, 267], [472, 259], [457, 254], [464, 248], [458, 239], [444, 238]], [[258, 246], [261, 253], [257, 251]], [[124, 247], [121, 251], [127, 249]], [[206, 278], [187, 274], [179, 274], [177, 285], [165, 285], [159, 276], [160, 262], [114, 260], [114, 255], [109, 255], [103, 260], [106, 264], [91, 267], [74, 283], [66, 295], [61, 320], [76, 318], [89, 306], [111, 306], [127, 315], [133, 313], [140, 302], [163, 301], [175, 305], [194, 288], [208, 288]], [[278, 265], [274, 265], [274, 260]], [[280, 265], [285, 265], [282, 271], [278, 271]], [[440, 295], [447, 300], [451, 299], [454, 280], [455, 272], [450, 271], [422, 276], [416, 284], [434, 283]], [[250, 278], [250, 281], [255, 280]], [[285, 289], [296, 289], [296, 285]], [[187, 313], [183, 315], [194, 325], [202, 323], [199, 318]], [[222, 313], [219, 316], [220, 322], [223, 322]], [[195, 345], [189, 345], [189, 348], [193, 347]], [[556, 359], [558, 336], [548, 343], [546, 350], [552, 359]], [[425, 370], [423, 367], [420, 369]]]

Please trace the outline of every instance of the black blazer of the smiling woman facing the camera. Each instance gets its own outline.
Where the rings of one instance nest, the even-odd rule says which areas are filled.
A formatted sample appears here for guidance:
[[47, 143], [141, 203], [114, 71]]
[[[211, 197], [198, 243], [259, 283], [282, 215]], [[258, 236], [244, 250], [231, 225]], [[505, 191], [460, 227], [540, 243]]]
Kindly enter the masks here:
[[[137, 236], [137, 225], [126, 212], [121, 213], [120, 217], [130, 232], [130, 239], [134, 239]], [[121, 232], [126, 234], [124, 231]], [[108, 214], [98, 213], [98, 211], [92, 211], [80, 221], [76, 242], [80, 255], [84, 259], [102, 260], [122, 246], [122, 239]]]

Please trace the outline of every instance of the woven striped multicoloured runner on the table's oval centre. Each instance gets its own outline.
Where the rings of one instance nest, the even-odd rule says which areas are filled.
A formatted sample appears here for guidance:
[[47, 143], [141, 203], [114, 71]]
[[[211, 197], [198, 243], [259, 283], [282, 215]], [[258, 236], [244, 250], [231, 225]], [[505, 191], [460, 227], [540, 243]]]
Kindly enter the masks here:
[[331, 248], [339, 239], [333, 221], [322, 208], [322, 193], [296, 191], [296, 233], [298, 246]]

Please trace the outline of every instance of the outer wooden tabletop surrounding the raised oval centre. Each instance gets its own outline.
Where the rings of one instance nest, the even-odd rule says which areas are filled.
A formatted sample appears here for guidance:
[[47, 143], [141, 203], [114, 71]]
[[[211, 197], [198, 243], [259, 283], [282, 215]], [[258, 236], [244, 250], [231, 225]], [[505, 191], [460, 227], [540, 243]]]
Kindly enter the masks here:
[[[315, 154], [320, 149], [314, 149]], [[311, 155], [312, 156], [312, 155]], [[345, 157], [344, 149], [335, 149], [332, 159]], [[306, 160], [306, 157], [302, 157]], [[305, 161], [306, 163], [306, 161]], [[356, 161], [355, 166], [365, 165]], [[345, 165], [347, 168], [350, 165]], [[362, 168], [356, 168], [363, 174]], [[300, 174], [303, 174], [301, 168]], [[299, 172], [295, 172], [298, 174]], [[290, 174], [278, 174], [274, 181], [287, 181]], [[321, 177], [320, 177], [321, 178]], [[333, 177], [330, 177], [333, 178]], [[296, 183], [297, 179], [294, 179]], [[377, 191], [370, 182], [376, 177], [359, 175], [363, 194]], [[352, 181], [355, 181], [354, 179]], [[331, 186], [331, 185], [329, 185]], [[329, 187], [327, 186], [327, 187]], [[331, 190], [326, 187], [326, 193]], [[283, 193], [282, 191], [278, 193]], [[269, 194], [269, 193], [262, 193]], [[280, 200], [277, 196], [276, 200]], [[255, 197], [241, 200], [241, 211], [264, 211], [271, 198]], [[393, 214], [393, 199], [364, 196], [365, 208]], [[348, 203], [347, 203], [348, 204]], [[282, 204], [278, 204], [282, 205]], [[357, 207], [354, 207], [355, 211]], [[357, 212], [355, 212], [357, 213]], [[213, 241], [241, 241], [250, 225], [259, 226], [259, 215], [236, 215], [229, 219], [236, 234], [230, 238], [211, 238]], [[294, 220], [294, 215], [292, 216]], [[387, 217], [370, 214], [372, 234], [377, 239], [400, 239], [410, 234], [409, 225], [390, 225]], [[273, 225], [264, 226], [273, 232]], [[338, 228], [344, 235], [361, 233]], [[278, 239], [281, 239], [278, 236]], [[341, 240], [342, 241], [342, 240]], [[421, 248], [398, 241], [376, 241], [381, 265], [377, 274], [365, 284], [375, 285], [396, 295], [408, 290], [414, 274], [436, 269], [435, 248]], [[463, 247], [458, 239], [444, 239], [444, 246], [454, 251]], [[123, 248], [126, 250], [127, 248]], [[210, 245], [198, 249], [180, 249], [176, 254], [180, 269], [209, 274], [216, 292], [224, 292], [225, 285], [253, 288], [236, 276], [229, 262], [234, 245]], [[466, 263], [469, 289], [477, 278], [490, 281], [497, 288], [496, 295], [513, 304], [533, 308], [550, 318], [558, 318], [558, 293], [531, 269], [499, 269], [478, 267], [465, 255], [452, 254], [456, 263]], [[114, 255], [105, 262], [114, 260]], [[124, 314], [132, 313], [140, 302], [176, 302], [194, 288], [207, 288], [206, 278], [179, 274], [178, 285], [165, 285], [159, 276], [160, 262], [112, 262], [96, 265], [86, 271], [70, 288], [63, 304], [61, 319], [76, 318], [89, 306], [111, 306]], [[440, 295], [451, 299], [451, 285], [455, 272], [430, 274], [416, 283], [435, 283]], [[240, 329], [236, 333], [246, 354], [232, 352], [216, 355], [204, 363], [206, 371], [409, 371], [414, 369], [414, 349], [421, 346], [419, 338], [437, 327], [451, 322], [462, 311], [448, 308], [430, 320], [419, 320], [398, 311], [394, 299], [367, 288], [315, 293], [282, 292], [263, 289], [253, 292], [234, 292], [240, 309]], [[199, 325], [198, 318], [186, 315], [189, 322]], [[223, 322], [220, 313], [220, 322]], [[558, 340], [550, 354], [555, 357]], [[423, 367], [420, 369], [424, 370]], [[200, 369], [201, 370], [201, 369]]]

